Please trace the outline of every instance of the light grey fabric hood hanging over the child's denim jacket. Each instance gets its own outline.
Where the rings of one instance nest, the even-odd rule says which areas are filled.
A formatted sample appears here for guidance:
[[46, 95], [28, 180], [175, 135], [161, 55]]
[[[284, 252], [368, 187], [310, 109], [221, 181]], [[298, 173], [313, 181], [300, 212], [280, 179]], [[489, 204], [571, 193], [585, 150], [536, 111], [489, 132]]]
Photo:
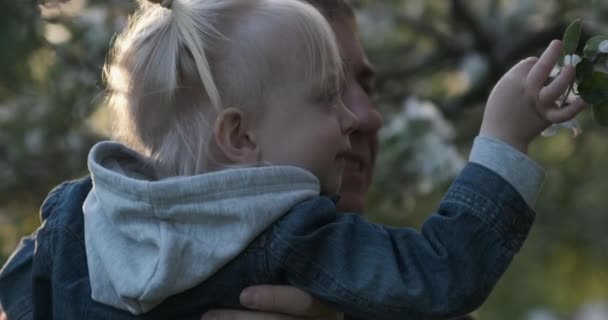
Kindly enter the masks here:
[[200, 284], [320, 190], [312, 173], [288, 166], [159, 180], [146, 158], [117, 142], [95, 145], [88, 166], [92, 297], [134, 314]]

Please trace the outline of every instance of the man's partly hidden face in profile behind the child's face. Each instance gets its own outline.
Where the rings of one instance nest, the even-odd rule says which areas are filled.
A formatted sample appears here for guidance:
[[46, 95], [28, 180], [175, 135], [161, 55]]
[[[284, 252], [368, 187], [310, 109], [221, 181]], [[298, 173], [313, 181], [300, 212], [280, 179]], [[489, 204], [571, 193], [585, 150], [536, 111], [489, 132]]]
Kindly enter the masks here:
[[358, 129], [350, 134], [352, 149], [346, 157], [338, 210], [363, 212], [378, 151], [378, 130], [382, 125], [382, 117], [371, 100], [374, 71], [357, 38], [354, 19], [337, 15], [330, 25], [345, 66], [342, 101], [359, 120]]

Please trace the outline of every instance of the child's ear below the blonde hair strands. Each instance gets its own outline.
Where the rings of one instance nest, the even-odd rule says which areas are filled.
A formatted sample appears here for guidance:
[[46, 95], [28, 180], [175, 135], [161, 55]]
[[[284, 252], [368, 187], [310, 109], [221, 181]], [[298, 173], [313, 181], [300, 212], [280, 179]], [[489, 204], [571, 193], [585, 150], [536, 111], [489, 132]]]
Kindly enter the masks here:
[[237, 108], [223, 110], [215, 119], [213, 136], [218, 149], [235, 164], [255, 164], [259, 148], [247, 114]]

